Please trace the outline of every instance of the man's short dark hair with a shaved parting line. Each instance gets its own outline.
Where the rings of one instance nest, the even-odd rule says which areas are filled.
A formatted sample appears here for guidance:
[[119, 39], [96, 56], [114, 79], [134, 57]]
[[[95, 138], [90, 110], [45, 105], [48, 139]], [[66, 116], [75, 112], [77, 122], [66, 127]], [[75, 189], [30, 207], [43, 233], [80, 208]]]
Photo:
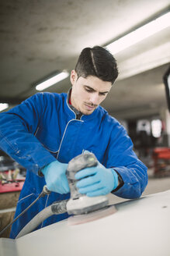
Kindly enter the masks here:
[[97, 76], [112, 84], [118, 76], [116, 59], [106, 48], [101, 46], [84, 48], [75, 66], [75, 72], [78, 77]]

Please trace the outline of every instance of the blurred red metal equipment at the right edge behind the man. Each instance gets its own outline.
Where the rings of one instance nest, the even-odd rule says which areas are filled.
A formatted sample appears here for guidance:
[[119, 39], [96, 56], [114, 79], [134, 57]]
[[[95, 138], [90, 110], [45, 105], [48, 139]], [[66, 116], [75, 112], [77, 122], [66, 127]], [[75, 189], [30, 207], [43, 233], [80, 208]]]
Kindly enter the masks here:
[[154, 148], [152, 157], [154, 159], [154, 174], [158, 174], [161, 170], [160, 160], [164, 161], [165, 165], [169, 165], [170, 148]]

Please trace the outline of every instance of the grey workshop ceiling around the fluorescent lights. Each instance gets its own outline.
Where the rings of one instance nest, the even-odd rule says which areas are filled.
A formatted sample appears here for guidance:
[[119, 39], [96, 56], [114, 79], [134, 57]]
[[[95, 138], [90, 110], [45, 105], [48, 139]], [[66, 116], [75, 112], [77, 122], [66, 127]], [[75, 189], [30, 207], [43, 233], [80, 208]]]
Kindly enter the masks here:
[[[71, 72], [85, 47], [106, 46], [167, 12], [169, 0], [0, 0], [0, 102], [18, 104], [57, 70]], [[170, 60], [166, 28], [115, 55], [120, 76], [103, 102], [118, 119], [165, 108], [162, 76]], [[45, 91], [67, 92], [63, 80]]]

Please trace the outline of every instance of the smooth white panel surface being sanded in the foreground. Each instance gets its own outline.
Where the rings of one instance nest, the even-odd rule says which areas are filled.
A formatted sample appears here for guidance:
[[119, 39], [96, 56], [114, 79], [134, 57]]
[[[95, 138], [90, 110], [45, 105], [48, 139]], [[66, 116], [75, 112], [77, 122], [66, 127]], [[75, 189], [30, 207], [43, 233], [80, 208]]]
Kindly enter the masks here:
[[17, 255], [170, 255], [170, 190], [116, 209], [93, 222], [68, 226], [64, 220], [29, 233], [16, 240]]

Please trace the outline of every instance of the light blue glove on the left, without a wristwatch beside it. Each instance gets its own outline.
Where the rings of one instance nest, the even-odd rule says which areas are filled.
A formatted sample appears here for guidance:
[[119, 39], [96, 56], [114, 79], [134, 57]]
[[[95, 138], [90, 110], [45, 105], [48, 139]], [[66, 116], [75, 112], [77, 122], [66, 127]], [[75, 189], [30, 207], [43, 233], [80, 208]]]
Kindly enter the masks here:
[[41, 172], [45, 177], [48, 190], [57, 192], [59, 194], [67, 194], [70, 192], [68, 179], [65, 174], [67, 168], [68, 164], [54, 161], [41, 169]]

